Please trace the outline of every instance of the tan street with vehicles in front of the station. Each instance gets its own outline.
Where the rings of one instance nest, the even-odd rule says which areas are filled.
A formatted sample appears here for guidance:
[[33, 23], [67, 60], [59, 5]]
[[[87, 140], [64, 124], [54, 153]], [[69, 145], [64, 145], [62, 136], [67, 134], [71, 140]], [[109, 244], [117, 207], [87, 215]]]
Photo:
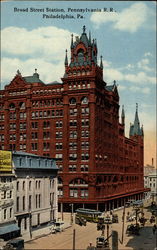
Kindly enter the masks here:
[[[125, 215], [132, 211], [132, 208], [125, 209]], [[117, 210], [114, 213], [118, 214], [119, 223], [113, 223], [109, 225], [109, 235], [111, 235], [112, 230], [118, 232], [118, 247], [119, 250], [153, 250], [157, 246], [156, 235], [153, 234], [152, 226], [149, 220], [147, 220], [145, 227], [140, 229], [140, 235], [127, 236], [126, 228], [127, 225], [132, 222], [125, 222], [124, 225], [124, 240], [122, 242], [122, 215], [123, 209]], [[150, 212], [144, 209], [145, 217], [150, 218]], [[125, 216], [126, 217], [126, 216]], [[64, 214], [64, 220], [70, 221], [70, 214]], [[133, 222], [135, 223], [135, 221]], [[73, 231], [75, 229], [75, 248], [73, 248]], [[96, 246], [96, 237], [101, 235], [101, 231], [97, 231], [96, 223], [87, 223], [87, 226], [79, 226], [73, 224], [72, 227], [65, 229], [62, 233], [49, 234], [45, 237], [27, 242], [25, 244], [25, 249], [86, 249], [89, 243]], [[105, 227], [105, 236], [107, 236]], [[112, 245], [112, 238], [109, 240], [110, 246]]]

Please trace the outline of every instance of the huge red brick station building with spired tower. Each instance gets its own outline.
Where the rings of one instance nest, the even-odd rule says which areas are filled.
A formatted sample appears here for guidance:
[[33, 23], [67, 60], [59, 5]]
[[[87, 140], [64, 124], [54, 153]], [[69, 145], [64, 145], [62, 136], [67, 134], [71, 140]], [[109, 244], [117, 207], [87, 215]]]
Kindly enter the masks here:
[[44, 84], [37, 70], [26, 77], [18, 70], [0, 91], [1, 149], [55, 157], [61, 209], [80, 203], [110, 209], [144, 192], [138, 107], [127, 138], [116, 82], [103, 80], [97, 53], [96, 40], [83, 27], [76, 41], [72, 35], [62, 82]]

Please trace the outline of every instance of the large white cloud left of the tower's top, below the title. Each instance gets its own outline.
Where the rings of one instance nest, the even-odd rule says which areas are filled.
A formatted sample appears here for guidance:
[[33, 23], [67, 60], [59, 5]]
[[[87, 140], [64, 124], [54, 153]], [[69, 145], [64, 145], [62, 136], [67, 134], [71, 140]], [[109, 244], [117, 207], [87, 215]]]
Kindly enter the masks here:
[[65, 49], [69, 48], [71, 32], [54, 26], [33, 30], [8, 27], [1, 31], [1, 37], [2, 52], [27, 57], [45, 56], [47, 60], [57, 61], [63, 59]]

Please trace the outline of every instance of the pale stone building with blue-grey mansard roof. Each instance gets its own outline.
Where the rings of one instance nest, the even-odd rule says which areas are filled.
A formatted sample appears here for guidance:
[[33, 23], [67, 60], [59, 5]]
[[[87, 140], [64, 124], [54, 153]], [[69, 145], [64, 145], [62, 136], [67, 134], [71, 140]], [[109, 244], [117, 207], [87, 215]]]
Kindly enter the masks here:
[[15, 217], [21, 234], [54, 222], [58, 217], [55, 160], [24, 152], [13, 153]]

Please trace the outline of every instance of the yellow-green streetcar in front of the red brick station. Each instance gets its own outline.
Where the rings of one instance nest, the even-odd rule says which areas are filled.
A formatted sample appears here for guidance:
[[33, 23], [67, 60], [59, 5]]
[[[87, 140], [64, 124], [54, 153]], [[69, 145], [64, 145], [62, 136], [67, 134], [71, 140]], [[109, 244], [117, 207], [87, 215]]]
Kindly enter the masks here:
[[76, 209], [76, 218], [84, 218], [86, 219], [86, 221], [89, 222], [97, 223], [99, 216], [102, 216], [102, 212], [94, 209], [87, 209], [87, 208]]

